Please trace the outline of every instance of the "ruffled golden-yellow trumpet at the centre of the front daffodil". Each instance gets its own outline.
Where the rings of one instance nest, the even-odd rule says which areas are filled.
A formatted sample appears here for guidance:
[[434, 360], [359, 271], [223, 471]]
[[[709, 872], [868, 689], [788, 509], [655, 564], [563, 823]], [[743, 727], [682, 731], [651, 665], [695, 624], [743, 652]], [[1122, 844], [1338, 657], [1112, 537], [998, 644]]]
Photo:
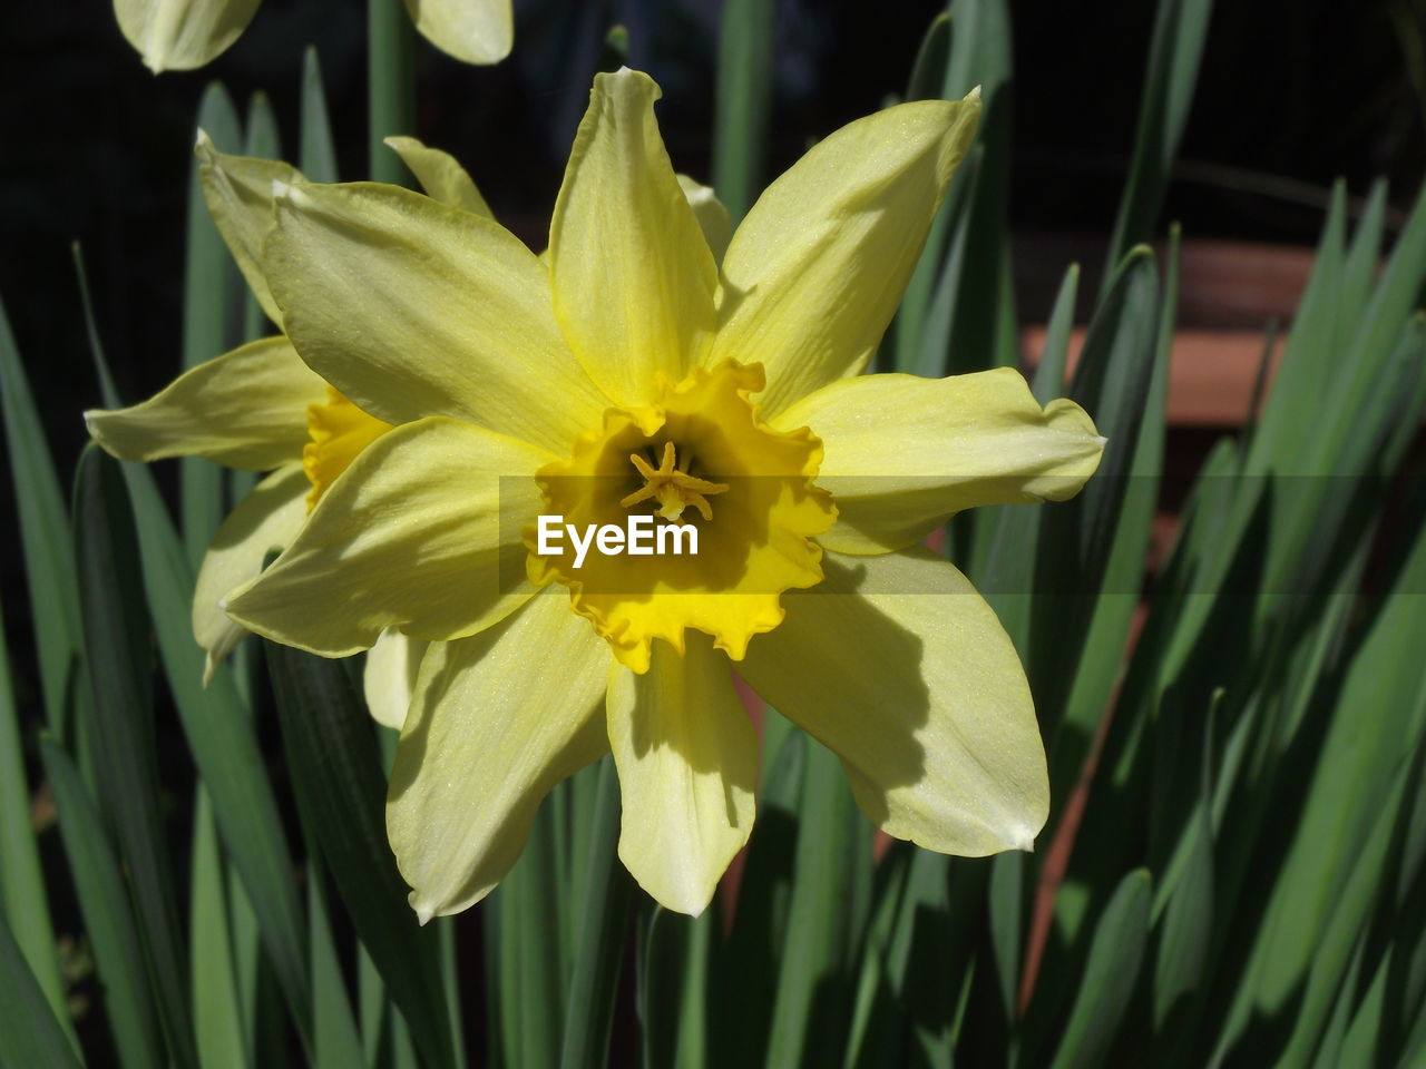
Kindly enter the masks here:
[[573, 610], [635, 671], [647, 670], [653, 639], [682, 654], [689, 627], [742, 660], [754, 634], [781, 623], [784, 590], [821, 582], [811, 537], [837, 516], [813, 486], [821, 440], [763, 423], [749, 401], [761, 388], [760, 365], [697, 368], [660, 383], [646, 408], [606, 410], [569, 460], [536, 476], [545, 512], [576, 529], [625, 526], [635, 513], [696, 527], [696, 554], [590, 552], [578, 569], [569, 554], [540, 556], [525, 530], [530, 579], [569, 587]]

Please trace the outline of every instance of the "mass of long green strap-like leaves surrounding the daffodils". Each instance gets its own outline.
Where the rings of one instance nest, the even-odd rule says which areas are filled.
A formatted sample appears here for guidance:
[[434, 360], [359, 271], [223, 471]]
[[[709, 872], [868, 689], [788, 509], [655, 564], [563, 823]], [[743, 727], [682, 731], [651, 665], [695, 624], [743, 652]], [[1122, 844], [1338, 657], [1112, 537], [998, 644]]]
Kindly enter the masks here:
[[[1158, 6], [1072, 376], [1078, 267], [1032, 309], [1048, 312], [1035, 396], [1068, 381], [1109, 440], [1099, 475], [1071, 503], [948, 529], [1037, 697], [1054, 804], [1034, 855], [874, 842], [837, 760], [766, 710], [757, 825], [736, 891], [702, 918], [633, 887], [606, 760], [556, 788], [489, 899], [421, 928], [382, 824], [392, 733], [372, 728], [347, 667], [274, 646], [264, 671], [248, 649], [201, 684], [194, 567], [250, 483], [185, 463], [173, 513], [148, 470], [90, 449], [67, 509], [0, 314], [43, 697], [43, 716], [17, 716], [0, 644], [0, 1065], [80, 1063], [53, 921], [66, 901], [100, 981], [81, 1031], [124, 1069], [446, 1069], [476, 1049], [599, 1066], [612, 1048], [692, 1068], [1422, 1065], [1426, 486], [1402, 475], [1426, 408], [1426, 190], [1390, 249], [1385, 187], [1355, 229], [1335, 190], [1261, 412], [1214, 448], [1142, 589], [1178, 228], [1162, 252], [1148, 242], [1209, 7]], [[773, 11], [724, 6], [713, 158], [734, 218], [766, 177]], [[389, 177], [379, 138], [412, 133], [411, 30], [395, 0], [371, 4], [371, 171]], [[600, 66], [629, 46], [610, 33]], [[888, 369], [1018, 359], [1011, 54], [1002, 0], [955, 0], [917, 53], [910, 98], [980, 84], [987, 108]], [[314, 53], [301, 115], [302, 170], [335, 180]], [[242, 124], [211, 87], [200, 124], [227, 148], [281, 151], [265, 97]], [[185, 365], [272, 329], [195, 195], [185, 264]], [[87, 294], [84, 308], [117, 403]], [[30, 814], [41, 781], [48, 852]]]

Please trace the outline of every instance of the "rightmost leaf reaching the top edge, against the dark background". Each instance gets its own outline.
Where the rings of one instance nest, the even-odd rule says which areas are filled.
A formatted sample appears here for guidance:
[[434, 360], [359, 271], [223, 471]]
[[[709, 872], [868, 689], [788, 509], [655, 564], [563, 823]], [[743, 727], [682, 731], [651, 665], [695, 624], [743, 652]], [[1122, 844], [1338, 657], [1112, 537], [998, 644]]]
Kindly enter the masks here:
[[[1198, 67], [1208, 36], [1212, 0], [1159, 0], [1149, 44], [1149, 66], [1139, 98], [1139, 124], [1134, 138], [1129, 180], [1119, 201], [1109, 239], [1109, 265], [1154, 237], [1174, 158], [1188, 123], [1198, 84]], [[1109, 279], [1105, 277], [1104, 292]]]

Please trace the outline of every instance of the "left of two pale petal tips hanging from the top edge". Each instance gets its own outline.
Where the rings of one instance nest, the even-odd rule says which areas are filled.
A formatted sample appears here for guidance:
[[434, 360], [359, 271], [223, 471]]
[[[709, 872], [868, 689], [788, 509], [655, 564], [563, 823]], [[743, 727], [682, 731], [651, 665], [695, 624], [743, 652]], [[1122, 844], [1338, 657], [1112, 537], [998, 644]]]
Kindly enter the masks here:
[[114, 0], [118, 29], [154, 74], [217, 58], [257, 10], [258, 0]]

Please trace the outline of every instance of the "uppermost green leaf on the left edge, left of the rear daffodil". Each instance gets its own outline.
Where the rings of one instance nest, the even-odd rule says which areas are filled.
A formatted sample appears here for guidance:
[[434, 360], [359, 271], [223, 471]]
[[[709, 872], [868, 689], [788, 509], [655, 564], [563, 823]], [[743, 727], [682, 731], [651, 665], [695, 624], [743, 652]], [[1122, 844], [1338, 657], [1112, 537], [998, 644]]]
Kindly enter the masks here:
[[46, 721], [60, 738], [68, 737], [68, 710], [76, 700], [80, 633], [78, 587], [68, 553], [68, 513], [44, 440], [40, 413], [10, 334], [10, 319], [0, 304], [0, 412], [14, 496], [20, 544], [30, 589], [30, 616], [40, 656], [40, 686]]

